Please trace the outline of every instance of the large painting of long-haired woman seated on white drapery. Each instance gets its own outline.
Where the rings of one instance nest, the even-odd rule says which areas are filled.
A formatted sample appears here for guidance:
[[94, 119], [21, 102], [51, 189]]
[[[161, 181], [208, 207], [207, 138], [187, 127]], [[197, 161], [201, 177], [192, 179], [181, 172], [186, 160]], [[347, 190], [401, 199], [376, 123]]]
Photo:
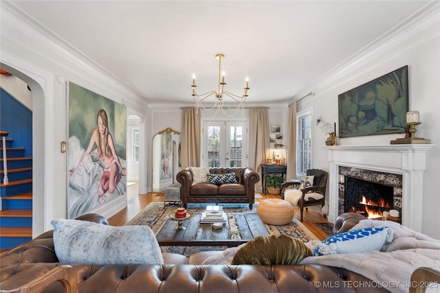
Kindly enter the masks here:
[[126, 194], [126, 108], [69, 83], [69, 218]]

